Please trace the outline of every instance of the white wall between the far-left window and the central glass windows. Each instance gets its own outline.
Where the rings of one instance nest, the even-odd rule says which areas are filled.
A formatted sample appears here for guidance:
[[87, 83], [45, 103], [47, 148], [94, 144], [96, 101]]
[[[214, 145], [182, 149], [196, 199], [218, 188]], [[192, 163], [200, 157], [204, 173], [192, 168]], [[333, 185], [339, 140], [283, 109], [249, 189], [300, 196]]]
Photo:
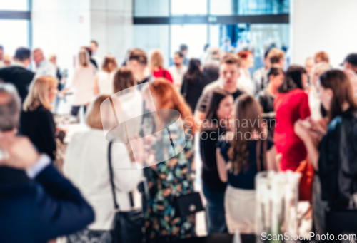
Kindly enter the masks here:
[[110, 52], [121, 63], [132, 43], [132, 0], [32, 0], [32, 46], [45, 56], [55, 53], [69, 76], [91, 39], [100, 56]]

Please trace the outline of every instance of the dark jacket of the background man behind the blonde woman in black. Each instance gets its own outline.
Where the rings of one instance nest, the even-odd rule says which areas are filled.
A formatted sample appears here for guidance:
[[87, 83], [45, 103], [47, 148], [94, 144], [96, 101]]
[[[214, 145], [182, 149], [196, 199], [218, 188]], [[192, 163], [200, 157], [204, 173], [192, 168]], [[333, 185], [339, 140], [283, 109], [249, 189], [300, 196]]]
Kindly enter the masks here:
[[24, 99], [29, 92], [29, 84], [32, 79], [34, 79], [34, 76], [35, 73], [19, 66], [0, 69], [0, 79], [5, 83], [12, 83], [16, 86], [17, 92], [19, 92], [21, 97], [21, 102], [24, 102]]

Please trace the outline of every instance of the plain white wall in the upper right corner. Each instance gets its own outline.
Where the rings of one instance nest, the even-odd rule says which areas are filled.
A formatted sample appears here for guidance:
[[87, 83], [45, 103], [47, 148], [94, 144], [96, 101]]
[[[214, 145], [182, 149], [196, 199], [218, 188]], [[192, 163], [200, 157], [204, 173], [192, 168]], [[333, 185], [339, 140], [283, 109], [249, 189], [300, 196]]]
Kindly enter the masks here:
[[334, 67], [357, 52], [356, 0], [291, 0], [291, 63], [326, 51]]

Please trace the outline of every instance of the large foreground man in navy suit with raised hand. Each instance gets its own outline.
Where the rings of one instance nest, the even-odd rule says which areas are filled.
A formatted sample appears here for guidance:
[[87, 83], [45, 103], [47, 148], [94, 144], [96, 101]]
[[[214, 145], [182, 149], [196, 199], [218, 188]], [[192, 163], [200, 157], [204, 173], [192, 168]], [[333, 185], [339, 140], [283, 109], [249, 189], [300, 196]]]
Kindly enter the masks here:
[[[93, 210], [47, 155], [16, 136], [19, 111], [14, 86], [0, 83], [0, 241], [41, 243], [84, 229]], [[6, 176], [9, 170], [29, 180]]]

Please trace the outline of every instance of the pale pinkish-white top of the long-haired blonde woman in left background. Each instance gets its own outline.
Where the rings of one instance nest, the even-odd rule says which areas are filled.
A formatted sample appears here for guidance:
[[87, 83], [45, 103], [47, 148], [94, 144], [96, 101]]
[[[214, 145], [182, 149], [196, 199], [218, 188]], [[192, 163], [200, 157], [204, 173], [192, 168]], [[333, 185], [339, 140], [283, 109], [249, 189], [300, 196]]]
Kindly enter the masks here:
[[94, 98], [94, 80], [96, 78], [96, 68], [89, 64], [86, 67], [79, 66], [74, 73], [71, 88], [74, 91], [72, 105], [86, 105]]

